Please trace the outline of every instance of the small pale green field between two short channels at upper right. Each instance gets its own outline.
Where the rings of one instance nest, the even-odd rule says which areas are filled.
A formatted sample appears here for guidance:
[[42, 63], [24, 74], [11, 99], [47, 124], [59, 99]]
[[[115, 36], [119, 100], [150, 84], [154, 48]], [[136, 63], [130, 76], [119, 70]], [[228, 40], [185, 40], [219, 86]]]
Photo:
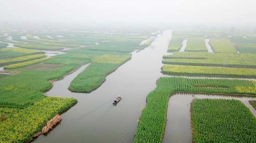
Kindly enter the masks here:
[[205, 51], [207, 52], [207, 48], [205, 47], [205, 38], [202, 37], [192, 37], [188, 38], [187, 47], [185, 51]]

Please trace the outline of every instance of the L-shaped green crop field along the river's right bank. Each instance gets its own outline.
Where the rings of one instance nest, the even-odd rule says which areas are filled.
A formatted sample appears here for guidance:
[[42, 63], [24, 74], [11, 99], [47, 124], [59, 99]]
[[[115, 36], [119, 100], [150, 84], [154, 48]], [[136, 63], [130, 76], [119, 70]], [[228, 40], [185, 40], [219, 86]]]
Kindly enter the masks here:
[[[188, 79], [183, 77], [161, 77], [156, 89], [147, 95], [147, 105], [142, 110], [134, 143], [161, 143], [166, 124], [167, 106], [170, 95], [174, 92], [194, 93], [222, 93], [222, 94], [253, 94], [253, 90], [246, 92], [237, 86], [255, 88], [255, 84], [248, 80], [223, 79]], [[250, 139], [250, 137], [247, 137]]]

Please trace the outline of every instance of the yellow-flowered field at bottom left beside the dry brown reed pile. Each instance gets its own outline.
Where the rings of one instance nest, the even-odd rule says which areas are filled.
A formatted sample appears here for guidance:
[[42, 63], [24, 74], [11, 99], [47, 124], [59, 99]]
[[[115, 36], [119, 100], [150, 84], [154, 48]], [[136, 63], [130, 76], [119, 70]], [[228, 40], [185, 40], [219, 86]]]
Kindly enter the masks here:
[[48, 120], [76, 104], [74, 98], [47, 97], [24, 109], [0, 108], [6, 115], [0, 121], [1, 143], [22, 143], [30, 140]]

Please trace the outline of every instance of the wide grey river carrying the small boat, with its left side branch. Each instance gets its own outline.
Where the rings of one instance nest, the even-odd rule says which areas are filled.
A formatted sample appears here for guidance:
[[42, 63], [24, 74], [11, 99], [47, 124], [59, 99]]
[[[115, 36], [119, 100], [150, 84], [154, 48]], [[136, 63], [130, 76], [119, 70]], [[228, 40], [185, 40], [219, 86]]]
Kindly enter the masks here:
[[[62, 114], [63, 120], [54, 130], [34, 142], [131, 143], [146, 96], [162, 76], [162, 55], [167, 53], [170, 38], [171, 31], [164, 31], [151, 46], [132, 53], [130, 61], [108, 75], [106, 82], [91, 93], [72, 93], [67, 89], [86, 66], [54, 82], [46, 95], [73, 97], [78, 103]], [[112, 101], [118, 95], [123, 99], [114, 106]]]

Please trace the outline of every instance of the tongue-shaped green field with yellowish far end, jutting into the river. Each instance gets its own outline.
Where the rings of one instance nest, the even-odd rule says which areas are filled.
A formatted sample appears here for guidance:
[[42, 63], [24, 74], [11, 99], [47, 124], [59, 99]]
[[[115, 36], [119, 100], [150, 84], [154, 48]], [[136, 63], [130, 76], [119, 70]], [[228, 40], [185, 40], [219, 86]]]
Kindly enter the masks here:
[[131, 55], [99, 55], [92, 63], [70, 83], [68, 89], [75, 92], [91, 92], [105, 81], [107, 74], [130, 60]]

